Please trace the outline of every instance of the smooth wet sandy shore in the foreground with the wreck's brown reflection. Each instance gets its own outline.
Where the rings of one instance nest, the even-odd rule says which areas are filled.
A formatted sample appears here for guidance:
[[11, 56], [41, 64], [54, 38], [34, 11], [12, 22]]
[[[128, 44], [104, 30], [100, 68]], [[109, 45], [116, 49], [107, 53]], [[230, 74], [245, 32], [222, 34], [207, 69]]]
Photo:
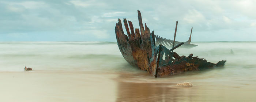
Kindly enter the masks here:
[[[0, 72], [0, 76], [1, 102], [254, 102], [256, 99], [255, 84], [200, 82], [195, 77], [180, 76], [155, 79], [146, 72], [34, 70]], [[194, 86], [176, 87], [176, 82], [182, 80], [191, 81]]]

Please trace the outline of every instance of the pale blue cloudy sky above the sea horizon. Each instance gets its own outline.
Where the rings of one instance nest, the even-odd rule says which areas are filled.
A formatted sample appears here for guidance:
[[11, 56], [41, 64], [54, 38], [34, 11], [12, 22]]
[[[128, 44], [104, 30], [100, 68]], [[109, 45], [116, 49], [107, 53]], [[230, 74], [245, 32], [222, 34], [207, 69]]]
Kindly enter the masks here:
[[[1, 0], [0, 41], [116, 41], [120, 18], [187, 41], [256, 41], [256, 0]], [[125, 32], [126, 33], [126, 32]]]

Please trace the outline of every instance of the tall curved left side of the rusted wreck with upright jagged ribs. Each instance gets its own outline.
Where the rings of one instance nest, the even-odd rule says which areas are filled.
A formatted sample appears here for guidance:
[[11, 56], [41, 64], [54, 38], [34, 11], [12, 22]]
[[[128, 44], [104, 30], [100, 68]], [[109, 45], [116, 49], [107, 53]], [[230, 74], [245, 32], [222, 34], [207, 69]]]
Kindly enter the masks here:
[[[116, 23], [115, 27], [118, 47], [124, 59], [130, 65], [146, 70], [148, 73], [152, 74], [155, 73], [155, 68], [157, 66], [157, 49], [155, 48], [155, 42], [152, 34], [146, 24], [144, 29], [140, 11], [138, 11], [138, 18], [140, 32], [139, 29], [136, 28], [136, 34], [134, 33], [132, 22], [128, 21], [131, 30], [131, 37], [127, 37], [127, 35], [124, 34], [121, 20], [118, 19], [118, 23]], [[126, 19], [124, 19], [124, 25], [129, 35], [128, 25], [125, 21]]]

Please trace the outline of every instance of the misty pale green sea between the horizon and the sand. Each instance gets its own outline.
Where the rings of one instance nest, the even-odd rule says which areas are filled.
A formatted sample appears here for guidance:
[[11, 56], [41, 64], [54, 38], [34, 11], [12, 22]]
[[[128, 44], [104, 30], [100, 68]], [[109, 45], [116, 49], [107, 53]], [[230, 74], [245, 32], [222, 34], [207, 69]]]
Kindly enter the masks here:
[[[191, 49], [178, 54], [204, 58], [210, 62], [227, 60], [225, 69], [254, 72], [256, 42], [193, 42]], [[230, 53], [233, 50], [234, 54]], [[133, 70], [121, 55], [116, 42], [0, 42], [0, 71], [38, 70]], [[253, 69], [253, 71], [252, 71]], [[230, 71], [228, 71], [230, 72]], [[240, 71], [239, 73], [241, 73]], [[236, 72], [233, 72], [236, 73]]]

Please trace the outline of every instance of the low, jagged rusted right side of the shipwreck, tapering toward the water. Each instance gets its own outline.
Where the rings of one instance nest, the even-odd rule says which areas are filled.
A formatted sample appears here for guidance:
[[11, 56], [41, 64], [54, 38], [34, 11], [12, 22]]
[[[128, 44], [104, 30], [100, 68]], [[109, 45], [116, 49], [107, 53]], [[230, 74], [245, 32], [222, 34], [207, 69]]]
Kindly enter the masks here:
[[[163, 45], [159, 45], [159, 47], [161, 50], [159, 51], [160, 61], [158, 65], [158, 77], [170, 76], [188, 71], [197, 71], [206, 68], [213, 68], [216, 66], [224, 66], [226, 62], [222, 60], [217, 64], [214, 64], [212, 62], [207, 62], [207, 60], [204, 60], [203, 58], [198, 58], [197, 56], [193, 57], [193, 54], [189, 54], [188, 57], [180, 57], [176, 52], [171, 52]], [[163, 58], [163, 55], [165, 55], [165, 58]], [[172, 57], [175, 59], [172, 59]]]

